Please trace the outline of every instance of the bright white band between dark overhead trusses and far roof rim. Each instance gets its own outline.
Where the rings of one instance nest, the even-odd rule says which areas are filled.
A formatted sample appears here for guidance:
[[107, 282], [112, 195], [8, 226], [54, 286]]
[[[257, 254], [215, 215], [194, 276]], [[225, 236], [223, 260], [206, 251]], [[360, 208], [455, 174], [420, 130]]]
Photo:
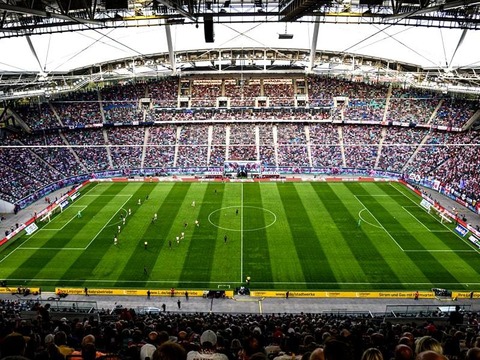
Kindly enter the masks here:
[[[285, 27], [292, 39], [279, 39]], [[116, 28], [35, 35], [0, 40], [2, 72], [68, 72], [122, 58], [168, 53], [164, 26]], [[310, 49], [314, 24], [215, 24], [215, 42], [206, 43], [202, 27], [171, 27], [175, 52], [229, 48]], [[317, 51], [351, 53], [418, 65], [421, 68], [480, 68], [480, 31], [379, 25], [321, 24]]]

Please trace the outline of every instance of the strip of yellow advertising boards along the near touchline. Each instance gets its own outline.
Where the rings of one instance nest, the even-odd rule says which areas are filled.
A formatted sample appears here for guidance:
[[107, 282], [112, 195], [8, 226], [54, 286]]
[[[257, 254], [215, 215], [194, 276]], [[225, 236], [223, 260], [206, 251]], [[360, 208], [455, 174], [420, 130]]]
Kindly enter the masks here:
[[[88, 295], [105, 296], [147, 296], [149, 289], [88, 289]], [[161, 297], [184, 297], [188, 292], [189, 297], [206, 297], [208, 290], [185, 290], [175, 289], [172, 295], [171, 289], [150, 289], [150, 296]], [[56, 288], [55, 293], [69, 295], [85, 295], [85, 289], [80, 288]], [[225, 297], [233, 298], [233, 290], [226, 290]], [[270, 291], [251, 290], [250, 297], [258, 298], [356, 298], [356, 299], [415, 299], [416, 291]], [[243, 296], [243, 295], [239, 295]], [[418, 299], [435, 299], [433, 291], [419, 291]], [[452, 292], [452, 301], [456, 299], [480, 299], [480, 292]]]

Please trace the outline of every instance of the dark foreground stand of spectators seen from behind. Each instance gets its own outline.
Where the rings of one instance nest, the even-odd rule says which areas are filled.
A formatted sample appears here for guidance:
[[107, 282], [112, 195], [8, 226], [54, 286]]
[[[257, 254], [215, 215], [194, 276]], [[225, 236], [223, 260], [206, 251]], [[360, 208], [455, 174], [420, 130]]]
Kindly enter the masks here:
[[[191, 300], [192, 309], [209, 302]], [[323, 351], [327, 360], [357, 360], [364, 359], [364, 353], [372, 352], [371, 348], [378, 351], [380, 357], [376, 359], [412, 359], [423, 351], [433, 350], [447, 359], [470, 360], [475, 358], [468, 354], [478, 351], [480, 345], [478, 316], [470, 309], [470, 304], [454, 306], [447, 312], [435, 306], [420, 306], [423, 312], [389, 317], [386, 312], [345, 310], [265, 314], [188, 312], [173, 310], [175, 303], [169, 302], [169, 298], [157, 299], [167, 304], [165, 310], [150, 307], [156, 310], [148, 314], [142, 306], [112, 304], [111, 307], [93, 305], [92, 308], [95, 302], [91, 300], [65, 301], [63, 306], [62, 300], [52, 298], [51, 301], [53, 303], [31, 297], [2, 296], [2, 358], [10, 354], [11, 337], [14, 336], [19, 336], [18, 341], [24, 347], [18, 355], [32, 360], [45, 358], [51, 339], [56, 346], [49, 349], [50, 357], [47, 358], [67, 348], [68, 354], [81, 351], [82, 345], [89, 340], [99, 352], [97, 358], [126, 360], [142, 360], [146, 344], [152, 345], [154, 352], [166, 342], [184, 349], [183, 357], [175, 359], [206, 352], [210, 357], [201, 358], [211, 358], [212, 353], [217, 353], [231, 360], [314, 359], [312, 353], [319, 351]], [[294, 307], [290, 301], [294, 300], [278, 300], [277, 307]], [[231, 303], [229, 300], [219, 302], [218, 306]], [[138, 303], [144, 304], [145, 300]], [[87, 308], [94, 311], [85, 312]], [[399, 357], [402, 346], [406, 346], [403, 351], [409, 350], [410, 356]], [[68, 354], [63, 358], [73, 359]]]

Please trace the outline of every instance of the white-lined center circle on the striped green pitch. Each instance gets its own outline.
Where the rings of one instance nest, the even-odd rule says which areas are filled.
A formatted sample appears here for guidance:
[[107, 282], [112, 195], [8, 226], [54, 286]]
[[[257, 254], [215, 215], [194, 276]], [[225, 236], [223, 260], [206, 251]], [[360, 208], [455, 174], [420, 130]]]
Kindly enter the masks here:
[[[230, 210], [231, 209], [231, 210]], [[245, 218], [242, 214], [237, 214], [236, 210], [239, 209], [243, 212], [245, 212], [245, 209], [248, 211], [248, 217], [249, 218], [258, 218], [260, 216], [265, 217], [265, 220], [268, 221], [268, 223], [265, 224], [265, 226], [261, 227], [256, 227], [256, 228], [250, 228], [248, 227], [248, 222], [244, 222], [242, 226], [242, 221]], [[218, 215], [218, 219], [213, 220], [213, 217], [216, 216], [218, 212], [224, 212], [224, 216], [220, 213]], [[265, 215], [265, 213], [267, 215]], [[214, 222], [216, 221], [216, 222]], [[258, 206], [226, 206], [217, 210], [212, 211], [208, 215], [208, 222], [212, 224], [213, 226], [222, 229], [222, 230], [227, 230], [227, 231], [257, 231], [257, 230], [263, 230], [266, 229], [277, 221], [277, 215], [273, 211], [270, 211], [268, 209], [258, 207]], [[218, 223], [224, 223], [224, 225], [220, 225]]]

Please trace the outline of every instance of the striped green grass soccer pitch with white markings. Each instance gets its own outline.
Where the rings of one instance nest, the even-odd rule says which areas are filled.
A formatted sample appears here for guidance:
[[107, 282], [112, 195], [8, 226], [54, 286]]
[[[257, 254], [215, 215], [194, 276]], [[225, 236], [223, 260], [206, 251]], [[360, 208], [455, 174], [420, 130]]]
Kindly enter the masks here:
[[419, 203], [383, 182], [96, 183], [3, 246], [0, 278], [42, 289], [235, 288], [247, 276], [254, 289], [480, 288], [478, 250]]

